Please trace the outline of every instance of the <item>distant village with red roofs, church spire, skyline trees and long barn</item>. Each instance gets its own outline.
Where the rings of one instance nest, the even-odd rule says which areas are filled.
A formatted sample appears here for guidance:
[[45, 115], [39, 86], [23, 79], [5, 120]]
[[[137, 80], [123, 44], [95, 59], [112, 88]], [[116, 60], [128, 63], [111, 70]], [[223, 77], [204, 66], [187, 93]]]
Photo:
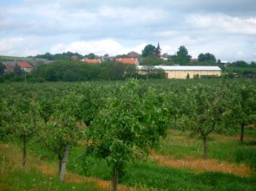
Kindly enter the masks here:
[[[40, 60], [41, 59], [41, 60]], [[55, 61], [80, 61], [81, 63], [87, 63], [89, 65], [99, 65], [102, 63], [110, 62], [115, 64], [128, 64], [134, 66], [137, 73], [140, 75], [148, 75], [148, 71], [163, 71], [162, 77], [166, 79], [193, 79], [203, 77], [220, 77], [223, 72], [229, 73], [233, 77], [256, 77], [255, 71], [246, 71], [243, 74], [239, 70], [234, 70], [234, 67], [255, 67], [255, 63], [248, 64], [244, 61], [236, 61], [234, 63], [228, 63], [227, 61], [220, 61], [215, 58], [211, 53], [201, 53], [197, 58], [192, 58], [186, 47], [181, 46], [175, 55], [168, 55], [167, 53], [161, 53], [161, 47], [159, 43], [157, 47], [148, 44], [142, 50], [142, 54], [138, 52], [129, 52], [127, 55], [104, 56], [94, 55], [80, 55], [78, 53], [62, 53], [57, 55], [51, 55], [45, 53], [45, 55], [30, 56], [26, 58], [26, 61], [15, 58], [13, 60], [1, 61], [4, 67], [5, 74], [11, 74], [13, 72], [25, 71], [31, 73], [33, 69], [36, 69], [41, 65], [54, 64]], [[231, 66], [231, 67], [230, 67]], [[232, 68], [233, 70], [229, 70]]]

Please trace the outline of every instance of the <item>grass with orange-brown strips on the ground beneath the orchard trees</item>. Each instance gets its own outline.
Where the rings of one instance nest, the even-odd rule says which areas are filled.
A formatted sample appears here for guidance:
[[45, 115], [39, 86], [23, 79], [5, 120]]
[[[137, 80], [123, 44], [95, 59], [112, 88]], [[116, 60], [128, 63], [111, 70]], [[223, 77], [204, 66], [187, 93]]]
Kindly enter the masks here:
[[[127, 164], [119, 190], [256, 190], [255, 129], [247, 128], [245, 134], [245, 144], [239, 145], [236, 131], [229, 136], [213, 133], [209, 159], [203, 160], [199, 137], [170, 129], [151, 155]], [[42, 155], [31, 141], [29, 165], [23, 169], [20, 143], [14, 142], [0, 144], [1, 190], [110, 190], [110, 167], [105, 160], [81, 157], [83, 147], [72, 149], [61, 183], [56, 158]]]

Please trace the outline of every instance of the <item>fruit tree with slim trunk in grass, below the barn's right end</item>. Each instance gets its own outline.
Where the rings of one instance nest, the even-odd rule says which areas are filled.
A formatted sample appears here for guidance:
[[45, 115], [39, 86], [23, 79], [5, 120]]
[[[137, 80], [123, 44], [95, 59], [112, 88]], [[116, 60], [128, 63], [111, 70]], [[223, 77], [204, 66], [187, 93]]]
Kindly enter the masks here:
[[197, 85], [187, 92], [189, 114], [184, 122], [192, 128], [193, 133], [200, 134], [203, 140], [204, 159], [208, 158], [207, 137], [225, 117], [225, 91], [223, 85]]

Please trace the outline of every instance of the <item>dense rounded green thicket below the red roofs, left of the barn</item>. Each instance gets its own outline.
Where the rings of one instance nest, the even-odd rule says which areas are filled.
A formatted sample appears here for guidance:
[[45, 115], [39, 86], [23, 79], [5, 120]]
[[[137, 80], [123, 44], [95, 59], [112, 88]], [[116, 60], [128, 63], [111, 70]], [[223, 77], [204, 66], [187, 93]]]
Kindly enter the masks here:
[[132, 74], [135, 74], [135, 66], [110, 61], [97, 65], [80, 61], [54, 61], [48, 65], [38, 66], [32, 72], [35, 79], [45, 79], [50, 82], [122, 80]]

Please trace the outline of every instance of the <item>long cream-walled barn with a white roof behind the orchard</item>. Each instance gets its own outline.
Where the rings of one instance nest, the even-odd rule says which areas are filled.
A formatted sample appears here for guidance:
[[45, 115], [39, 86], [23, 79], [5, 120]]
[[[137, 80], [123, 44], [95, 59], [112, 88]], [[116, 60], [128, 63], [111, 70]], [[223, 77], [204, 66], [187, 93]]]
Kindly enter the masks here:
[[[220, 76], [222, 69], [219, 66], [154, 66], [155, 69], [163, 69], [167, 79], [194, 78], [197, 74], [202, 76]], [[137, 66], [141, 74], [146, 73], [147, 66]]]

